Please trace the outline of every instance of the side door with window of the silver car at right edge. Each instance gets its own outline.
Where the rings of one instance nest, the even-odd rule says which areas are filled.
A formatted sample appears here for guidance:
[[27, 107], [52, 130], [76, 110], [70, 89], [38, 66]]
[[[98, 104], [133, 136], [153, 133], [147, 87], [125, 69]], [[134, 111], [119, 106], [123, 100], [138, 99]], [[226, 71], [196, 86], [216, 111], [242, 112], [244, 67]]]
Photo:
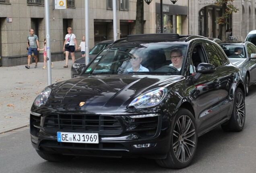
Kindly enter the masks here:
[[256, 54], [256, 46], [248, 42], [246, 43], [246, 51], [249, 58], [248, 69], [250, 71], [250, 84], [252, 84], [256, 82], [256, 58], [251, 57], [251, 54]]

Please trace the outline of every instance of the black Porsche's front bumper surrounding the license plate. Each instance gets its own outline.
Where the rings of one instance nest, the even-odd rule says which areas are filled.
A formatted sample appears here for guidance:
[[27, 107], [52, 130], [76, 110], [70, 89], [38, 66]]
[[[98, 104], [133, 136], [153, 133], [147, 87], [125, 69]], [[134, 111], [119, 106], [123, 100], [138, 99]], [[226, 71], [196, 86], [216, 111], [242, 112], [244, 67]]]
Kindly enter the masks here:
[[[47, 125], [49, 121], [46, 117], [49, 117], [49, 115], [41, 117], [31, 115], [30, 122], [33, 147], [36, 150], [46, 153], [94, 157], [145, 157], [163, 159], [169, 151], [171, 122], [170, 115], [168, 114], [154, 118], [142, 118], [135, 123], [136, 125], [134, 125], [134, 122], [128, 123], [129, 116], [118, 116], [115, 118], [118, 120], [120, 127], [112, 130], [109, 130], [109, 128], [100, 129], [99, 131], [89, 131], [89, 129], [85, 131], [56, 129], [54, 125], [50, 126], [49, 123]], [[53, 120], [52, 117], [51, 120]], [[116, 122], [114, 124], [117, 125]], [[58, 142], [57, 131], [99, 133], [99, 144]], [[143, 144], [150, 144], [150, 147], [134, 147], [134, 145]]]

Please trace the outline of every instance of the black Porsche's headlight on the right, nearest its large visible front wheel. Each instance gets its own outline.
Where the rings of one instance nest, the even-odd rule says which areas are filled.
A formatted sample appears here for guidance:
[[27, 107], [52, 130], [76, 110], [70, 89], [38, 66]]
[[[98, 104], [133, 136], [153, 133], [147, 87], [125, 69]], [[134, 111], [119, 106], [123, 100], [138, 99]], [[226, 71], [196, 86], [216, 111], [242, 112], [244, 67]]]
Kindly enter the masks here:
[[161, 103], [166, 95], [167, 89], [164, 87], [152, 89], [136, 97], [128, 107], [135, 107], [137, 109], [153, 107]]

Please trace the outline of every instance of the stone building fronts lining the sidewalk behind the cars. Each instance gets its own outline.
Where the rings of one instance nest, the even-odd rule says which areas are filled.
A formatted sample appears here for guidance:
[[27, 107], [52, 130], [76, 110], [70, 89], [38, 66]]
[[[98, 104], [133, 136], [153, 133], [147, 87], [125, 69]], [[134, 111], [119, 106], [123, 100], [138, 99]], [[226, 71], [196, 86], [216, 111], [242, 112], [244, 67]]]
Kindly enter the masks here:
[[[43, 47], [45, 38], [45, 0], [0, 0], [0, 66], [27, 64], [27, 35], [33, 28]], [[79, 43], [85, 35], [85, 0], [67, 0], [66, 9], [54, 9], [58, 0], [50, 4], [50, 41], [52, 61], [63, 60], [62, 51], [67, 28], [71, 27]], [[89, 48], [103, 40], [113, 39], [113, 0], [89, 0]], [[116, 0], [117, 38], [135, 33], [137, 0]], [[217, 37], [220, 26], [216, 17], [221, 7], [215, 0], [144, 0], [144, 33], [196, 34]], [[160, 4], [163, 4], [162, 11]], [[256, 0], [234, 0], [239, 11], [232, 14], [229, 28], [233, 36], [244, 40], [246, 34], [255, 28]], [[161, 16], [163, 26], [161, 26]], [[76, 58], [81, 56], [76, 51]], [[39, 54], [43, 61], [43, 51]]]

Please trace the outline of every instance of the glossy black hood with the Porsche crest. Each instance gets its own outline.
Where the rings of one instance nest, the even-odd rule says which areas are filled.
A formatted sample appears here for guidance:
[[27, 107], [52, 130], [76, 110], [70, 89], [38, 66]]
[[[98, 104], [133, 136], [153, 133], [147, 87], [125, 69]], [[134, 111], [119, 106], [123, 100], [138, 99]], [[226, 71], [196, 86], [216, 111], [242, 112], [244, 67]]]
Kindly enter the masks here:
[[79, 76], [52, 85], [45, 106], [58, 111], [122, 113], [141, 93], [170, 86], [183, 76], [97, 75]]

